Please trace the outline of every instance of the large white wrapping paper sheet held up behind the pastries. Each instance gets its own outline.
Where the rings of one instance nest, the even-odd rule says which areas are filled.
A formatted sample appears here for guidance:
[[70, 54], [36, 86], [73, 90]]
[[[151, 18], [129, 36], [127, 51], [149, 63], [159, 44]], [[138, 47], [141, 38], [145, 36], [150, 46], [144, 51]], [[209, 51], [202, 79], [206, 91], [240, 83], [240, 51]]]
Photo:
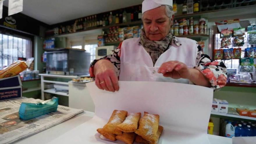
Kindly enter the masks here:
[[[160, 115], [164, 131], [159, 144], [208, 144], [207, 127], [213, 90], [202, 86], [167, 82], [119, 81], [118, 92], [97, 88], [87, 83], [95, 104], [95, 117], [90, 126], [103, 127], [114, 109], [128, 113], [144, 111]], [[90, 136], [91, 137], [91, 136]], [[104, 143], [111, 143], [109, 141]]]

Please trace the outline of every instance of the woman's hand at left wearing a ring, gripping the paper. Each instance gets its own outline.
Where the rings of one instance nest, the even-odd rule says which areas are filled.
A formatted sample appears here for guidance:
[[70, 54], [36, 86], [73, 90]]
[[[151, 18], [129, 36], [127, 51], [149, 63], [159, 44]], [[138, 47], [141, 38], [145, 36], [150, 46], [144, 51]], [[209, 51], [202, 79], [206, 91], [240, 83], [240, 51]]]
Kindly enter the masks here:
[[114, 65], [108, 60], [99, 60], [94, 65], [95, 83], [99, 89], [115, 92], [119, 90]]

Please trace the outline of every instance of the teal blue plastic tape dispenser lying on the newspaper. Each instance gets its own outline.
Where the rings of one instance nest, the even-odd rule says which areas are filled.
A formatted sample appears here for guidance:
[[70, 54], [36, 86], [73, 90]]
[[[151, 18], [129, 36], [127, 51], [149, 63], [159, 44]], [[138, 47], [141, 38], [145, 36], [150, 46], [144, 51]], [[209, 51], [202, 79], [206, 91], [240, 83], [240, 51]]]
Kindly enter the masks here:
[[53, 97], [50, 101], [38, 102], [36, 104], [22, 102], [19, 107], [19, 118], [29, 120], [47, 113], [57, 111], [58, 97]]

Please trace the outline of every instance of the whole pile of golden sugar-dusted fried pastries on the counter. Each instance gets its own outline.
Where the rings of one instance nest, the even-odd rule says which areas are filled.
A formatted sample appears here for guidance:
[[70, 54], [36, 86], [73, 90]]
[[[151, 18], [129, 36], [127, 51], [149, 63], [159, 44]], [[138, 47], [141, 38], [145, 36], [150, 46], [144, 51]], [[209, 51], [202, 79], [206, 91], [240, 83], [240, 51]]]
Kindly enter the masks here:
[[109, 122], [97, 131], [109, 140], [116, 139], [127, 144], [136, 143], [157, 144], [163, 127], [159, 125], [159, 115], [144, 112], [129, 113], [114, 110]]

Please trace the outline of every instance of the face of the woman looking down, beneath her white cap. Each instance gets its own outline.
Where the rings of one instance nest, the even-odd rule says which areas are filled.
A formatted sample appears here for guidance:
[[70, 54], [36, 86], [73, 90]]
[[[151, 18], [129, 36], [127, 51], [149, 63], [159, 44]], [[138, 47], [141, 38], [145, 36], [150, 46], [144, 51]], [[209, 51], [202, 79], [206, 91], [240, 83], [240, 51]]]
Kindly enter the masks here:
[[166, 15], [165, 6], [148, 10], [143, 16], [145, 34], [149, 40], [162, 40], [170, 32], [172, 23]]

